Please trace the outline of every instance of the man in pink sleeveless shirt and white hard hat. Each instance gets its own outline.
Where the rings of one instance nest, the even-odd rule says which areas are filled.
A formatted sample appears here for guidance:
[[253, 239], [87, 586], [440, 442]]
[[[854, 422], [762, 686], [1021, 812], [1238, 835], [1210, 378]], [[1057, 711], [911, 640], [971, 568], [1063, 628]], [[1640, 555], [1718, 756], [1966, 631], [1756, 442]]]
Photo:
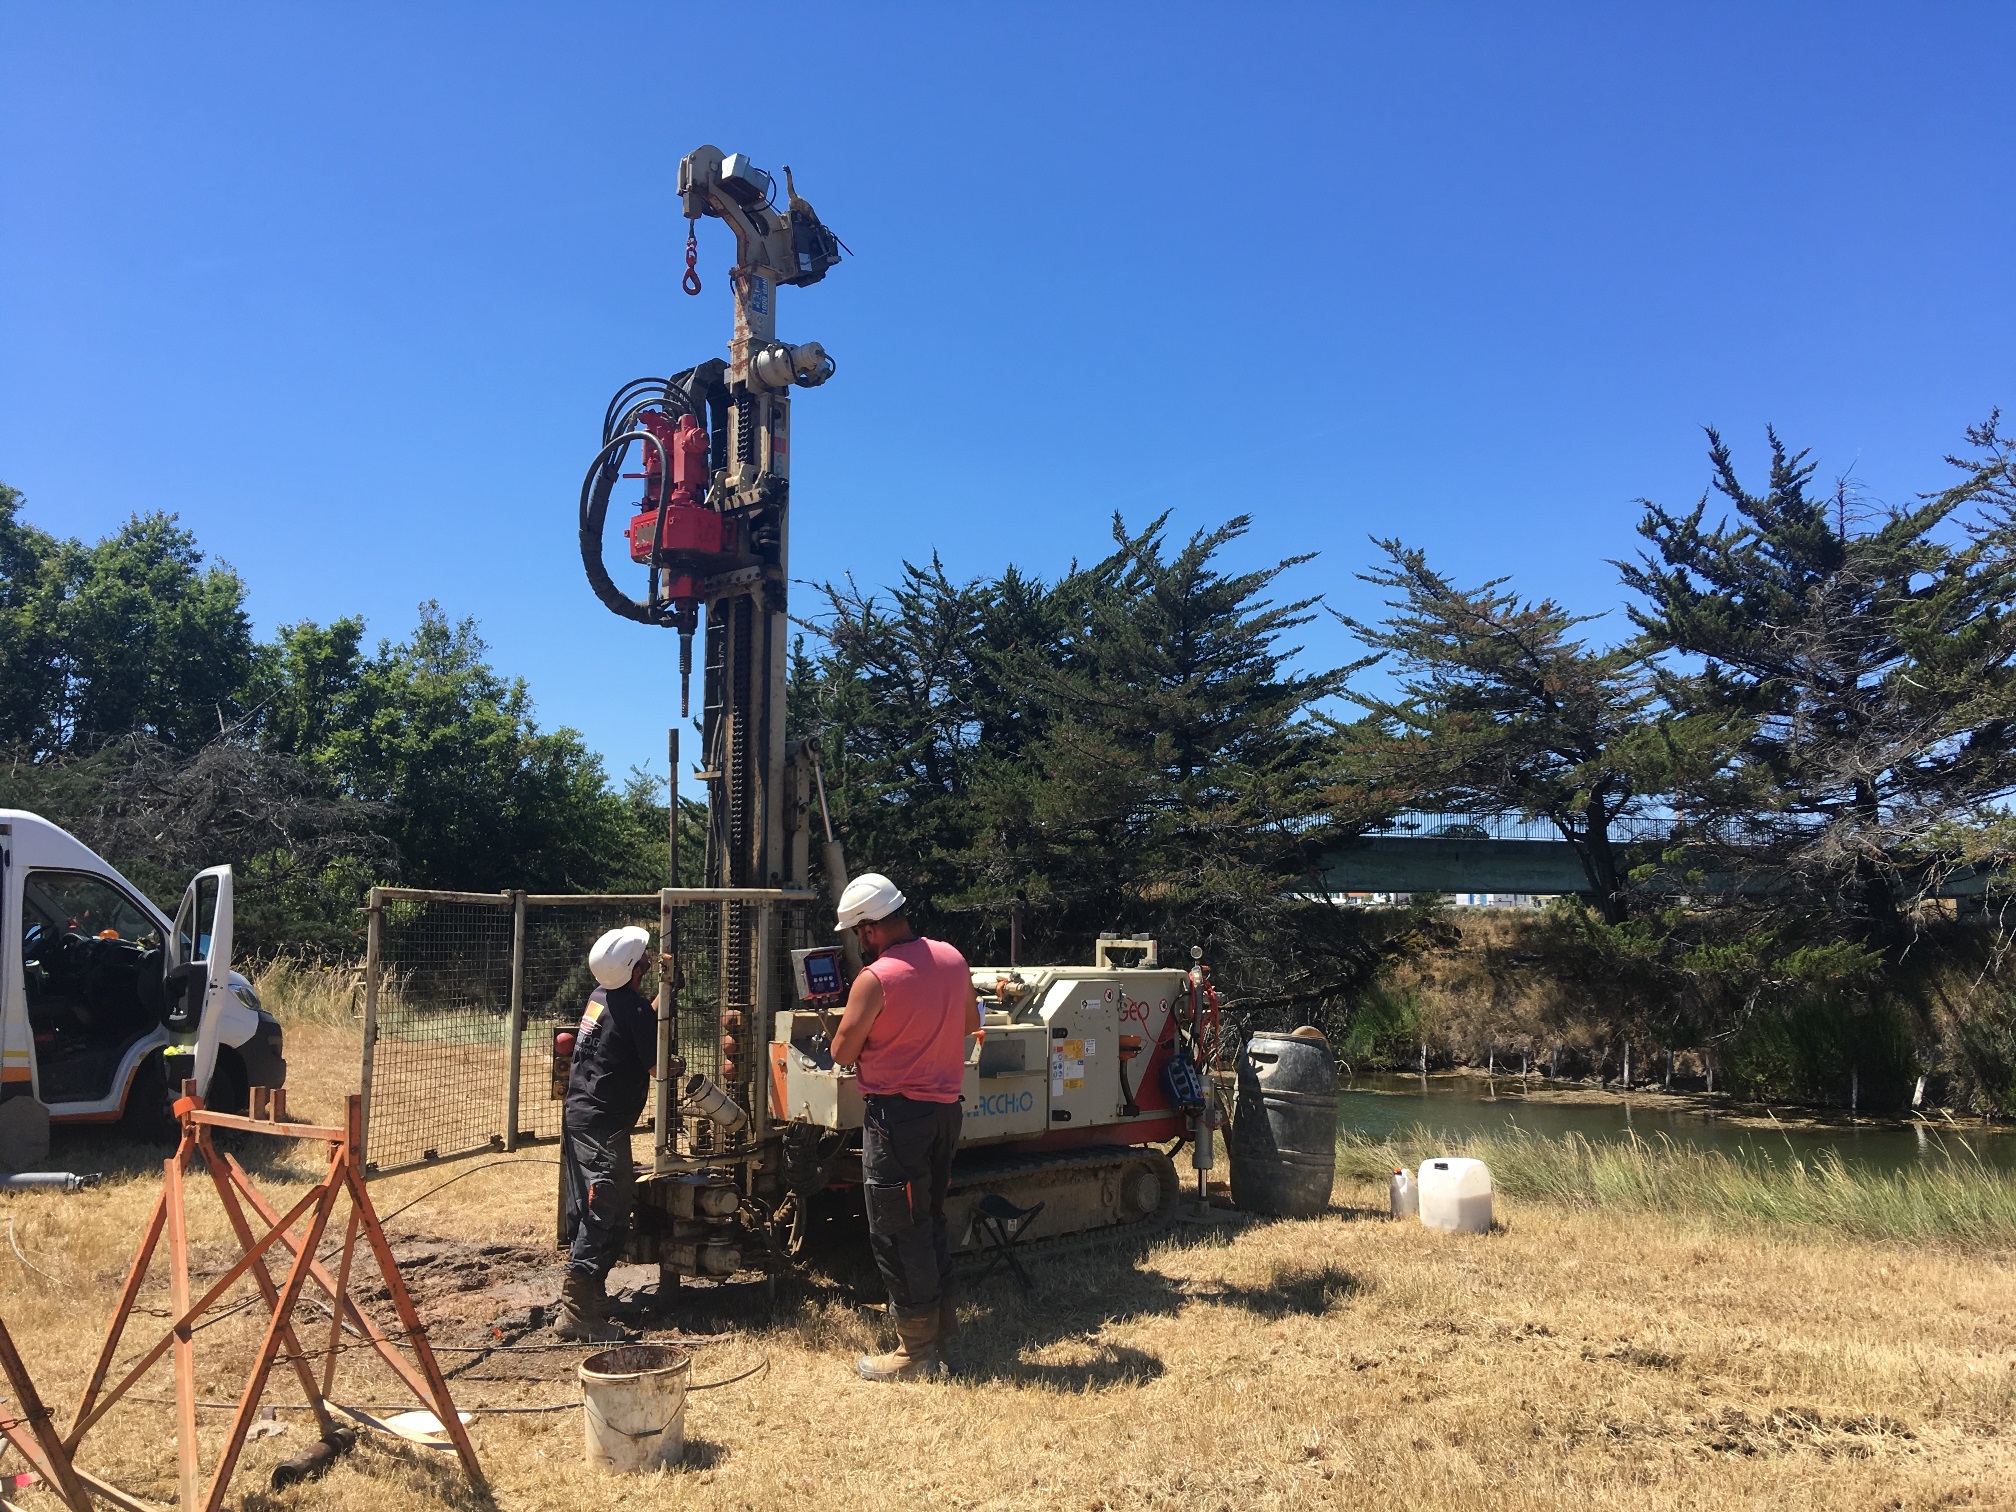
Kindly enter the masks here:
[[903, 1381], [943, 1369], [941, 1347], [958, 1322], [946, 1187], [960, 1147], [966, 1036], [980, 1030], [980, 1002], [966, 958], [925, 939], [903, 917], [905, 897], [877, 871], [841, 893], [841, 929], [853, 929], [867, 966], [847, 994], [833, 1058], [857, 1066], [861, 1185], [869, 1248], [889, 1286], [897, 1347], [863, 1355], [869, 1381]]

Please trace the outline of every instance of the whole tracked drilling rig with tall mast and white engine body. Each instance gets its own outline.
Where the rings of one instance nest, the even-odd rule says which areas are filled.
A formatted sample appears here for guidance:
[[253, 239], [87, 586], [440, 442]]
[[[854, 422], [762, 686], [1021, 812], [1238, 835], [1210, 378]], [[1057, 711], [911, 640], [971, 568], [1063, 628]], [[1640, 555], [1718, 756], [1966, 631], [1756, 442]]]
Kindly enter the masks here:
[[[736, 242], [728, 361], [617, 389], [581, 490], [597, 597], [677, 633], [681, 718], [702, 637], [704, 885], [661, 901], [653, 1161], [627, 1252], [665, 1276], [776, 1268], [861, 1202], [863, 1101], [825, 1052], [859, 960], [851, 939], [829, 943], [831, 909], [808, 887], [812, 792], [821, 808], [825, 792], [814, 752], [784, 738], [790, 401], [835, 363], [816, 341], [776, 335], [778, 292], [821, 282], [847, 248], [788, 167], [784, 190], [778, 206], [770, 173], [718, 147], [679, 163], [689, 294], [700, 222]], [[623, 478], [643, 482], [625, 528], [641, 599], [603, 560]], [[837, 897], [847, 877], [831, 829], [823, 869]], [[1105, 937], [1089, 966], [978, 966], [974, 986], [984, 1024], [968, 1042], [948, 1200], [956, 1250], [982, 1244], [988, 1193], [1026, 1214], [1016, 1240], [1034, 1252], [1151, 1234], [1181, 1198], [1161, 1147], [1179, 1139], [1204, 1193], [1224, 1040], [1202, 960], [1171, 968], [1153, 939]]]

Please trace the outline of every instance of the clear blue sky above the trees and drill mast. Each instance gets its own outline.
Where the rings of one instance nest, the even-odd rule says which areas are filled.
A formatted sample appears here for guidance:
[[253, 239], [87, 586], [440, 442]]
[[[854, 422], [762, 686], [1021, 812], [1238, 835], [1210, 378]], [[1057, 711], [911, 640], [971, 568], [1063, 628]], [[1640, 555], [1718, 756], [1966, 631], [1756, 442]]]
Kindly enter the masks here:
[[800, 579], [1167, 508], [1351, 613], [1385, 534], [1611, 609], [1706, 423], [1893, 502], [2016, 407], [2012, 58], [2010, 4], [0, 4], [0, 480], [177, 512], [262, 633], [437, 599], [661, 770], [675, 641], [573, 516], [609, 393], [726, 341], [714, 141], [855, 250], [780, 300], [839, 359]]

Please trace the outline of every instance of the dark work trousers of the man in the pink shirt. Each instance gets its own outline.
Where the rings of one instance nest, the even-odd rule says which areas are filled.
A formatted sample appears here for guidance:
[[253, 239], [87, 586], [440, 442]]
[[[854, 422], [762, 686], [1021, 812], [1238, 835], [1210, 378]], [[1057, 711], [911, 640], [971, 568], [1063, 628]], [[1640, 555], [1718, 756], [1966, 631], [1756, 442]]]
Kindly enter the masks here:
[[869, 1248], [889, 1286], [889, 1312], [921, 1318], [952, 1290], [946, 1187], [960, 1147], [960, 1105], [869, 1097], [861, 1123], [861, 1179]]

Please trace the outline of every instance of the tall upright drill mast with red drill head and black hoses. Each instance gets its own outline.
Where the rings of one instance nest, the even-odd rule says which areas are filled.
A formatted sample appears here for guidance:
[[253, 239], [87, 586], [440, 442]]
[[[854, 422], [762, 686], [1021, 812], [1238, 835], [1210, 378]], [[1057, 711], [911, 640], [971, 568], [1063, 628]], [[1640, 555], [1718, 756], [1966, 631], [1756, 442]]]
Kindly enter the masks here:
[[[681, 716], [689, 714], [694, 637], [706, 617], [700, 776], [708, 784], [704, 885], [714, 889], [798, 889], [808, 875], [804, 774], [784, 742], [790, 391], [833, 377], [833, 359], [816, 341], [778, 341], [776, 296], [786, 284], [825, 278], [841, 244], [790, 187], [788, 167], [784, 173], [780, 208], [772, 177], [740, 153], [698, 147], [681, 159], [689, 294], [702, 288], [700, 220], [720, 220], [736, 238], [728, 361], [619, 389], [581, 490], [581, 554], [597, 597], [625, 619], [679, 635]], [[641, 474], [623, 472], [631, 456], [641, 458]], [[631, 560], [647, 569], [643, 599], [619, 589], [603, 564], [603, 526], [619, 478], [643, 478], [643, 500], [625, 532]], [[758, 994], [764, 956], [776, 950], [758, 937], [758, 919], [754, 903], [724, 905], [718, 941], [718, 1075], [744, 1107], [754, 1101], [756, 1068], [744, 1044], [768, 1028]]]

